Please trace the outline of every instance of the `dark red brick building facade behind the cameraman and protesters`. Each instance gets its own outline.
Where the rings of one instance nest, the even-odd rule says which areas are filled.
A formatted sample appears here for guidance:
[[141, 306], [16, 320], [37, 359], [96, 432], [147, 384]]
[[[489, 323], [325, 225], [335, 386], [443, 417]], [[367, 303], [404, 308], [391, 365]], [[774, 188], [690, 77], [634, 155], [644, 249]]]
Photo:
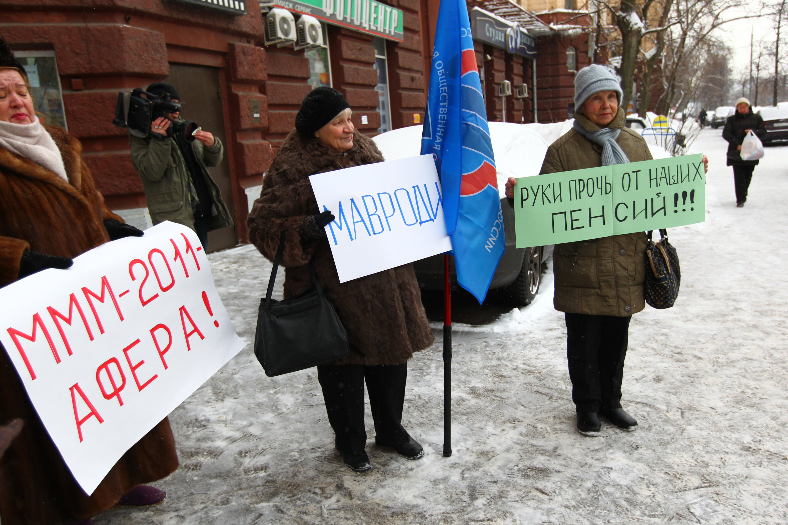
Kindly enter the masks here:
[[[262, 174], [294, 127], [301, 100], [314, 86], [342, 91], [356, 127], [367, 135], [422, 122], [439, 6], [431, 0], [222, 2], [231, 7], [207, 9], [200, 5], [213, 3], [207, 0], [10, 0], [0, 29], [18, 57], [29, 57], [23, 62], [39, 64], [42, 72], [47, 60], [53, 71], [56, 66], [48, 91], [40, 88], [46, 95], [39, 102], [46, 108], [38, 109], [80, 139], [107, 204], [142, 227], [150, 220], [127, 131], [112, 124], [117, 94], [160, 80], [177, 87], [184, 118], [225, 144], [225, 161], [210, 171], [236, 226], [211, 232], [210, 250], [246, 240], [248, 199], [256, 196]], [[469, 0], [468, 8], [485, 2]], [[375, 26], [373, 10], [363, 10], [373, 4], [388, 17], [377, 22], [396, 24], [396, 31]], [[344, 6], [345, 18], [332, 19], [310, 6]], [[270, 43], [266, 13], [283, 7], [296, 19], [304, 13], [318, 17], [325, 45], [296, 50], [292, 43]], [[528, 31], [542, 31], [536, 41], [537, 90], [533, 60], [476, 42], [488, 117], [504, 119], [505, 113], [508, 122], [533, 122], [535, 94], [539, 121], [563, 120], [574, 78], [566, 69], [566, 49], [577, 49], [582, 67], [582, 35], [562, 37], [533, 13], [517, 9], [515, 19], [526, 20]], [[529, 95], [500, 97], [504, 79], [526, 84]]]

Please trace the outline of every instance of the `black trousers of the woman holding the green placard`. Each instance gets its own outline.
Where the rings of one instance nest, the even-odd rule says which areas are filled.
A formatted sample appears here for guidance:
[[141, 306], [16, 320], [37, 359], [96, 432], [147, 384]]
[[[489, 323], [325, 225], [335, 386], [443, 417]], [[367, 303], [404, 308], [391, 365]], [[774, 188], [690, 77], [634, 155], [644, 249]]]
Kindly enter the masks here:
[[631, 317], [566, 313], [567, 360], [578, 412], [621, 408]]

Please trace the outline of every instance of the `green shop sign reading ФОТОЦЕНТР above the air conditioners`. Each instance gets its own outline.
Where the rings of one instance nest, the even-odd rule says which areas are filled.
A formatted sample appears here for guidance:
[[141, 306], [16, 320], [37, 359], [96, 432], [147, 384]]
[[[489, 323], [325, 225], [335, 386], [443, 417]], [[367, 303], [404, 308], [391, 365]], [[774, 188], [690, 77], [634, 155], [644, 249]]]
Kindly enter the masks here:
[[375, 0], [274, 0], [274, 4], [327, 24], [397, 42], [404, 39], [402, 11]]

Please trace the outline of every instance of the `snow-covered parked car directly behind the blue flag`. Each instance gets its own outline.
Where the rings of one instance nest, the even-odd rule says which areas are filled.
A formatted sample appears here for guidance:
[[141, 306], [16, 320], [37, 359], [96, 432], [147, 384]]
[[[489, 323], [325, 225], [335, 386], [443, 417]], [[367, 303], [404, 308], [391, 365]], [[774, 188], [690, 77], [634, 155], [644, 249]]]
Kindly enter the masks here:
[[[537, 126], [539, 132], [534, 131]], [[553, 246], [515, 246], [515, 210], [508, 204], [504, 187], [509, 177], [539, 174], [547, 153], [548, 142], [563, 135], [569, 124], [510, 124], [490, 122], [492, 151], [495, 153], [498, 192], [504, 214], [504, 255], [492, 277], [490, 289], [499, 289], [500, 296], [512, 306], [529, 305], [539, 292], [542, 264], [552, 256]], [[553, 136], [556, 135], [556, 136]], [[383, 157], [393, 161], [420, 153], [422, 126], [409, 126], [377, 135], [373, 139]], [[443, 256], [427, 257], [413, 264], [418, 284], [425, 290], [442, 290], [444, 283]]]

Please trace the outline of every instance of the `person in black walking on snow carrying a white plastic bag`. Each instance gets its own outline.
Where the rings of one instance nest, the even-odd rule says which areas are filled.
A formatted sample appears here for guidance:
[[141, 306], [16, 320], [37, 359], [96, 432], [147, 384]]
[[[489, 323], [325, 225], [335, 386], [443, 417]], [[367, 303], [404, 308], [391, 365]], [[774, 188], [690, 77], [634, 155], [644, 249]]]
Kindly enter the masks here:
[[727, 165], [734, 168], [734, 188], [738, 208], [743, 208], [747, 201], [749, 183], [753, 180], [753, 170], [758, 165], [758, 161], [743, 161], [739, 153], [749, 131], [753, 131], [758, 139], [766, 136], [764, 119], [753, 113], [749, 100], [742, 97], [736, 101], [736, 113], [727, 118], [723, 128], [723, 139], [728, 141]]

